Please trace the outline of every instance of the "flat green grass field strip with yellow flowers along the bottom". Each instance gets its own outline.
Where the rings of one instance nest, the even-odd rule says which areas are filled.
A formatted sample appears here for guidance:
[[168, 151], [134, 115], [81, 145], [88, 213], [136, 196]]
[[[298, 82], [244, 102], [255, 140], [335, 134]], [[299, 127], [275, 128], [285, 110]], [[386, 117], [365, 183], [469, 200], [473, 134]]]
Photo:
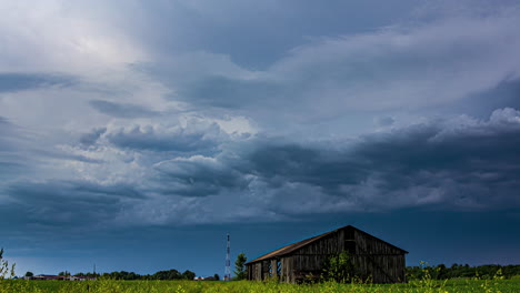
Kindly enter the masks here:
[[520, 292], [520, 280], [449, 280], [412, 281], [408, 284], [337, 284], [308, 285], [277, 282], [196, 282], [196, 281], [0, 281], [0, 293], [191, 293], [191, 292]]

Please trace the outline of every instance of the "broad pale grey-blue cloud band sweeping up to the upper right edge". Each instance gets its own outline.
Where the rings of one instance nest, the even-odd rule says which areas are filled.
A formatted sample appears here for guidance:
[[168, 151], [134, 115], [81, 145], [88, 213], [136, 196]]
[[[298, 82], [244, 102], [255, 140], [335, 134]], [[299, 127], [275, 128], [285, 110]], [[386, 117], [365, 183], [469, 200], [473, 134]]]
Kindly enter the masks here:
[[[174, 90], [174, 99], [194, 108], [241, 109], [261, 120], [273, 111], [294, 121], [348, 111], [424, 109], [518, 80], [520, 64], [511, 60], [520, 49], [520, 33], [513, 29], [519, 11], [499, 10], [486, 21], [450, 17], [319, 39], [264, 71], [241, 69], [238, 74], [240, 68], [229, 70], [237, 67], [231, 60], [222, 63], [214, 54], [220, 61], [211, 62], [213, 68], [193, 73], [189, 64], [168, 69], [156, 64], [151, 74]], [[178, 78], [184, 70], [190, 79]]]

